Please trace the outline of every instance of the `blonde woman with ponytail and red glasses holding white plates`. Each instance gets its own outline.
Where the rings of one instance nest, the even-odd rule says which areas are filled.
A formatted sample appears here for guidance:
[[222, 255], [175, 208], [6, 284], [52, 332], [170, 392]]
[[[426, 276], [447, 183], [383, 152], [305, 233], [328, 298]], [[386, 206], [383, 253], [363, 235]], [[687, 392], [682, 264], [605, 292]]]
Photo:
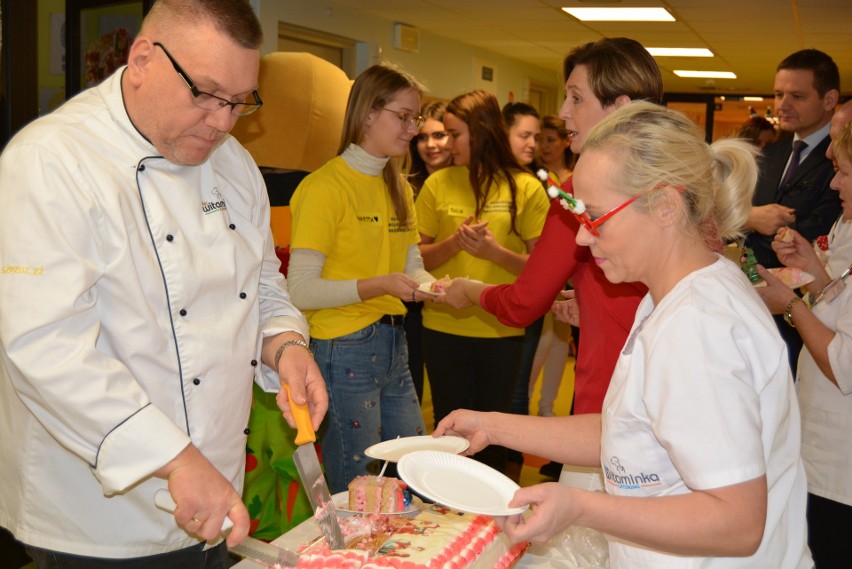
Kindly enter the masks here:
[[613, 569], [813, 567], [787, 348], [749, 280], [716, 252], [748, 219], [756, 152], [742, 140], [708, 145], [687, 117], [647, 102], [587, 133], [566, 200], [583, 220], [577, 242], [608, 280], [648, 287], [602, 413], [460, 411], [435, 430], [467, 437], [469, 452], [499, 444], [603, 466], [606, 492], [519, 489], [508, 507], [532, 514], [499, 520], [512, 541], [579, 525], [610, 536]]

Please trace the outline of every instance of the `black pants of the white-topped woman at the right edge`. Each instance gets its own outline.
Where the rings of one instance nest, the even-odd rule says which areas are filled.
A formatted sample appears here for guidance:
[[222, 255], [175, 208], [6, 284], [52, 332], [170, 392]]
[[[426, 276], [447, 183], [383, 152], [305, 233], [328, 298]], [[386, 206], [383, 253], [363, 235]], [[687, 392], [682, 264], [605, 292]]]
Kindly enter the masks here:
[[852, 506], [808, 494], [808, 546], [816, 569], [848, 569]]

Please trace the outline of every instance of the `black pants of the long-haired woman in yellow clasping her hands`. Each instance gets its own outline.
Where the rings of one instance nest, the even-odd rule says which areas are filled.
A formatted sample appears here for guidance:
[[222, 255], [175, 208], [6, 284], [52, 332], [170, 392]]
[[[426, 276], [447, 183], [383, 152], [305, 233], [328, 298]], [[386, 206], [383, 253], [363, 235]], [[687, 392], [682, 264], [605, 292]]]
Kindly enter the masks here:
[[[435, 424], [455, 409], [508, 413], [523, 345], [523, 336], [468, 338], [424, 329]], [[491, 446], [473, 458], [503, 472], [506, 456], [504, 447]]]

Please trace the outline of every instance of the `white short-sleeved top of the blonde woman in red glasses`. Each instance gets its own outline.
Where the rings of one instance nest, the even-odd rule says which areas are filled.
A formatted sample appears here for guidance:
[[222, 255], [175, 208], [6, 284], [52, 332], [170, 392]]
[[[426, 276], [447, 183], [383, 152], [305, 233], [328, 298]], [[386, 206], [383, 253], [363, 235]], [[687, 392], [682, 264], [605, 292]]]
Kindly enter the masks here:
[[719, 257], [656, 307], [647, 295], [603, 404], [606, 491], [670, 496], [765, 474], [766, 528], [751, 557], [684, 557], [611, 539], [612, 568], [812, 567], [799, 441], [786, 348], [736, 265]]

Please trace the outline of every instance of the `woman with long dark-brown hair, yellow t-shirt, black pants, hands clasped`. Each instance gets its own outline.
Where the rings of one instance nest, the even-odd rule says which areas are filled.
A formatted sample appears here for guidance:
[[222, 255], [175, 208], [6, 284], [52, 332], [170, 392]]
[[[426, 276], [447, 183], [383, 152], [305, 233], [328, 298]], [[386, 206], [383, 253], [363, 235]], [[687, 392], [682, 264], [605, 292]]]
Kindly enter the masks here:
[[[429, 176], [417, 197], [426, 269], [437, 277], [510, 283], [544, 225], [548, 202], [541, 183], [512, 154], [491, 93], [453, 99], [444, 126], [454, 166]], [[439, 303], [424, 305], [423, 325], [435, 421], [458, 408], [508, 411], [524, 331], [479, 307]], [[506, 450], [489, 447], [476, 458], [502, 471]]]

